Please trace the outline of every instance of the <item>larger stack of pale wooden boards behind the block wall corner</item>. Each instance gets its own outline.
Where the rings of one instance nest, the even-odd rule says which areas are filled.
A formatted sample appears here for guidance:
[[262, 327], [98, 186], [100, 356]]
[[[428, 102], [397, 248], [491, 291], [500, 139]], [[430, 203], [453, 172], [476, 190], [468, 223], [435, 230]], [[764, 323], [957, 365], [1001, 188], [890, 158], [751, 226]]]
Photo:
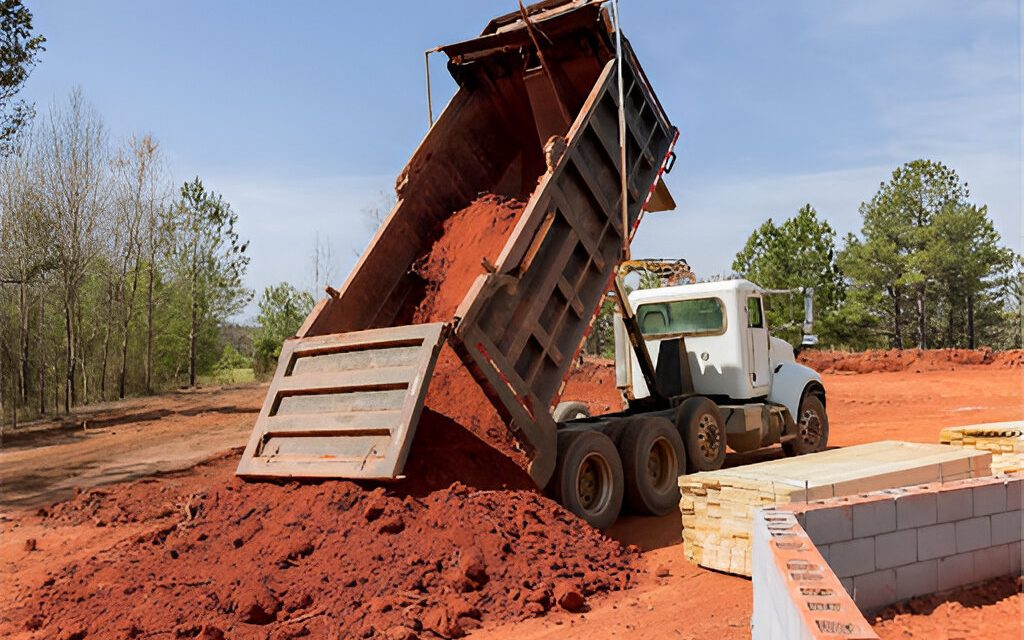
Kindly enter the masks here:
[[987, 452], [886, 440], [684, 475], [683, 547], [708, 568], [751, 574], [759, 507], [990, 475]]

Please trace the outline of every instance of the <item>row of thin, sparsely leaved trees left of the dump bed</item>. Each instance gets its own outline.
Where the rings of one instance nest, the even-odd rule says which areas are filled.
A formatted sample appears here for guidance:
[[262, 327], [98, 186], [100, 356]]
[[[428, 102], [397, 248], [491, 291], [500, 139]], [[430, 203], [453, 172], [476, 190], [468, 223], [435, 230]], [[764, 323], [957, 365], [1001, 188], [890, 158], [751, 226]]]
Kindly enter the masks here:
[[237, 214], [75, 91], [0, 159], [0, 421], [194, 385], [252, 297]]

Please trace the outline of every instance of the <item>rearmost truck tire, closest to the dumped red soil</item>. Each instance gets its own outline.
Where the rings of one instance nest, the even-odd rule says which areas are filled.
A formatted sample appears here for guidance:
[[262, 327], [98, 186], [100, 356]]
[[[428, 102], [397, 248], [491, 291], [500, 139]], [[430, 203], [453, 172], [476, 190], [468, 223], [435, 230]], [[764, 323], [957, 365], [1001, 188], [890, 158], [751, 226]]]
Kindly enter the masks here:
[[608, 436], [600, 431], [559, 433], [551, 493], [591, 526], [611, 526], [623, 508], [623, 463]]

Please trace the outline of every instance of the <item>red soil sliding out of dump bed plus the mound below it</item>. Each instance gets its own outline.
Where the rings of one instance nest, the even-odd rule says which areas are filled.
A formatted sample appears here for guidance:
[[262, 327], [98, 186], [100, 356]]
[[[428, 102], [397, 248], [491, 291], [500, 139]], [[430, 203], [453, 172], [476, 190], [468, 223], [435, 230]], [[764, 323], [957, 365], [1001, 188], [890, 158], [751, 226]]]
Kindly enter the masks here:
[[[417, 322], [453, 318], [522, 207], [486, 196], [444, 223], [416, 266], [426, 282]], [[230, 478], [176, 498], [141, 481], [77, 496], [50, 511], [54, 524], [147, 532], [19, 594], [0, 635], [450, 638], [586, 609], [589, 596], [629, 586], [632, 552], [538, 494], [516, 463], [525, 457], [445, 347], [404, 479]]]

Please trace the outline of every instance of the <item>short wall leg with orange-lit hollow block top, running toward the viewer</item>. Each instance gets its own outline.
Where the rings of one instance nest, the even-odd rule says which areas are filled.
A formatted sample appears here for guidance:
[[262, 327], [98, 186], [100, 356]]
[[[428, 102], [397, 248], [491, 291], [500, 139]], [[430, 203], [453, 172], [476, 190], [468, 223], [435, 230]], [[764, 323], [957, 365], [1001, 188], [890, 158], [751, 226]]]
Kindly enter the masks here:
[[878, 639], [792, 512], [755, 513], [752, 563], [755, 640]]

